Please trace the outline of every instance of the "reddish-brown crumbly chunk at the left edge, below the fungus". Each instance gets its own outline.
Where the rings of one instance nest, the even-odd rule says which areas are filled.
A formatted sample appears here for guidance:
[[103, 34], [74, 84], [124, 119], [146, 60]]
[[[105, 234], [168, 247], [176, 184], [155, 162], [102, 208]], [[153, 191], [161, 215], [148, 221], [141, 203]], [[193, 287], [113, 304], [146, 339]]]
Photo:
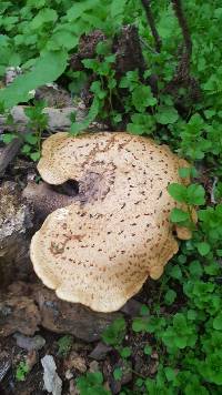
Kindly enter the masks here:
[[0, 335], [9, 336], [14, 332], [34, 335], [41, 318], [33, 300], [27, 296], [10, 296], [0, 300]]

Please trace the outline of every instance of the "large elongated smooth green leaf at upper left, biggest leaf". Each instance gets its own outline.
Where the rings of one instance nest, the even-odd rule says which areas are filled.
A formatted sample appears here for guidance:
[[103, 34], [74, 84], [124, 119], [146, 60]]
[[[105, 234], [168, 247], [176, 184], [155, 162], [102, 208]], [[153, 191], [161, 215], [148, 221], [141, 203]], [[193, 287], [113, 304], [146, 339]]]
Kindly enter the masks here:
[[29, 91], [57, 80], [67, 67], [68, 53], [64, 51], [47, 52], [36, 62], [34, 68], [17, 79], [6, 89], [0, 90], [0, 102], [11, 108], [29, 99]]

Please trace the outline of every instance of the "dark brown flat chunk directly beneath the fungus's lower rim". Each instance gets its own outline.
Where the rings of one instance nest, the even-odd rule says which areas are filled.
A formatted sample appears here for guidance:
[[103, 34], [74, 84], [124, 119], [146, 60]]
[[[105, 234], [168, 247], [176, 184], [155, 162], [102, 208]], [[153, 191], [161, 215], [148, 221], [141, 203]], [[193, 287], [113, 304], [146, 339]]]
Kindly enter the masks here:
[[41, 325], [56, 333], [74, 335], [85, 342], [100, 340], [104, 328], [120, 317], [119, 313], [97, 313], [75, 303], [61, 301], [41, 284], [32, 286], [41, 315]]

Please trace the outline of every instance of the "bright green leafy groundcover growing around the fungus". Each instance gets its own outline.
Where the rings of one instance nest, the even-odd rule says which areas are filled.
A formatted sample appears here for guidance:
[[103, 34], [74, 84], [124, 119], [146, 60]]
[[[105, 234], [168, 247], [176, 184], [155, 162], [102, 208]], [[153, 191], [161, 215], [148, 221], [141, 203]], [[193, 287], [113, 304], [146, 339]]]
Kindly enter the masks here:
[[[148, 23], [145, 9], [150, 6], [161, 49]], [[112, 128], [127, 120], [130, 133], [151, 135], [159, 143], [168, 143], [174, 152], [192, 165], [181, 169], [181, 176], [192, 183], [169, 186], [169, 193], [189, 210], [174, 209], [172, 223], [190, 226], [192, 239], [181, 242], [179, 254], [171, 260], [150, 304], [130, 324], [134, 334], [148, 340], [143, 347], [149, 358], [159, 355], [157, 373], [141, 377], [133, 373], [133, 383], [123, 386], [121, 394], [185, 394], [222, 393], [222, 4], [220, 0], [188, 0], [183, 12], [192, 39], [190, 75], [199, 85], [199, 100], [192, 100], [191, 85], [179, 87], [176, 93], [164, 88], [175, 75], [184, 50], [182, 30], [175, 18], [178, 1], [158, 0], [27, 0], [0, 3], [0, 77], [7, 67], [21, 67], [19, 75], [8, 88], [0, 90], [0, 110], [9, 115], [11, 107], [30, 100], [30, 91], [64, 78], [73, 99], [79, 95], [88, 75], [93, 74], [90, 91], [92, 103], [82, 123], [72, 117], [70, 133], [87, 129], [97, 118], [109, 119]], [[133, 23], [140, 34], [147, 70], [127, 72], [115, 78], [115, 57], [111, 40], [122, 26]], [[78, 51], [83, 33], [100, 29], [108, 38], [97, 47], [94, 59], [83, 60], [83, 70], [69, 65]], [[158, 78], [153, 93], [144, 83], [150, 75]], [[121, 110], [114, 105], [119, 93]], [[37, 102], [27, 109], [30, 132], [23, 138], [22, 154], [37, 161], [41, 152], [47, 104]], [[11, 122], [10, 115], [8, 122]], [[11, 132], [2, 139], [9, 143], [18, 136]], [[20, 136], [21, 138], [21, 136]], [[208, 179], [208, 180], [206, 180]], [[198, 223], [192, 211], [196, 210]], [[125, 341], [127, 322], [120, 318], [103, 334], [103, 341], [115, 348], [123, 365], [133, 366], [131, 345]], [[65, 354], [70, 343], [59, 344]], [[130, 364], [129, 362], [132, 362]], [[149, 359], [148, 359], [149, 363]], [[21, 372], [20, 372], [21, 371]], [[18, 379], [24, 379], [26, 366], [19, 366]], [[113, 372], [115, 381], [122, 368]], [[102, 373], [79, 377], [81, 395], [109, 394]]]

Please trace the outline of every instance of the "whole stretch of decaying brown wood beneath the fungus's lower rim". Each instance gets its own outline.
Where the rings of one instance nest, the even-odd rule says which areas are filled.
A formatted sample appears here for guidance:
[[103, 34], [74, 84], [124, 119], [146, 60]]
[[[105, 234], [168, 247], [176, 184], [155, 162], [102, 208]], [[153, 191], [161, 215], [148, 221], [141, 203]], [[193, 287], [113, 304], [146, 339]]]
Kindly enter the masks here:
[[[135, 316], [140, 308], [141, 304], [131, 300], [121, 311]], [[39, 283], [12, 283], [9, 293], [0, 296], [0, 336], [16, 332], [34, 335], [41, 326], [94, 342], [120, 316], [121, 313], [97, 313], [81, 304], [61, 301], [53, 291]]]

